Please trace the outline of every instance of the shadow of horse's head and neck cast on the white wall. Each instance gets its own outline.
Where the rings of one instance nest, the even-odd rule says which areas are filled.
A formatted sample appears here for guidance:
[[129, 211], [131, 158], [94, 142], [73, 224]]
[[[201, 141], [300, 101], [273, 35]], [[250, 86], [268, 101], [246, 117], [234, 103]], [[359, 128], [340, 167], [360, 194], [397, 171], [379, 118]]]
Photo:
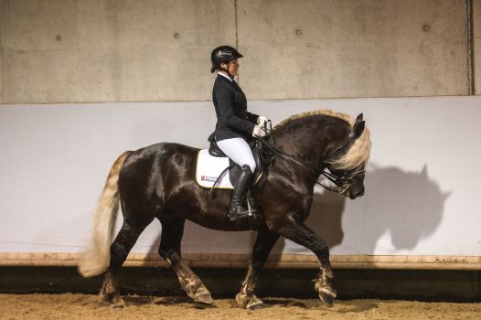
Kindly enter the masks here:
[[[443, 219], [443, 193], [421, 172], [405, 172], [397, 167], [371, 165], [365, 180], [364, 197], [355, 200], [315, 189], [306, 225], [326, 240], [332, 254], [389, 254], [412, 250], [429, 237]], [[251, 236], [251, 245], [255, 234]], [[283, 238], [273, 254], [310, 253]]]

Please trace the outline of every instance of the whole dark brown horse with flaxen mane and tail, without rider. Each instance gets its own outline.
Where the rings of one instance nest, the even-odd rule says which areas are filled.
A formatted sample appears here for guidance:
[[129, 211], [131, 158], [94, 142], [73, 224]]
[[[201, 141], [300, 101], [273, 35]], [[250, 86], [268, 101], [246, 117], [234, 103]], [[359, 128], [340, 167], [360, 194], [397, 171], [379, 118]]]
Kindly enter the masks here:
[[[274, 139], [275, 133], [275, 139]], [[176, 272], [178, 281], [194, 303], [213, 304], [211, 294], [182, 260], [180, 244], [186, 219], [218, 230], [255, 229], [257, 239], [236, 302], [242, 308], [262, 307], [255, 293], [259, 272], [280, 236], [313, 251], [320, 263], [315, 291], [332, 306], [337, 296], [326, 241], [305, 225], [317, 180], [327, 170], [345, 197], [364, 194], [365, 165], [369, 160], [369, 130], [358, 118], [328, 110], [305, 112], [277, 124], [264, 141], [276, 142], [282, 157], [275, 157], [253, 187], [262, 208], [259, 223], [230, 221], [230, 190], [199, 187], [195, 181], [198, 148], [183, 144], [153, 144], [126, 151], [112, 165], [93, 218], [90, 244], [80, 253], [79, 272], [84, 277], [104, 273], [103, 301], [123, 306], [117, 274], [145, 227], [159, 219], [162, 234], [158, 253]], [[119, 204], [123, 225], [112, 242]]]

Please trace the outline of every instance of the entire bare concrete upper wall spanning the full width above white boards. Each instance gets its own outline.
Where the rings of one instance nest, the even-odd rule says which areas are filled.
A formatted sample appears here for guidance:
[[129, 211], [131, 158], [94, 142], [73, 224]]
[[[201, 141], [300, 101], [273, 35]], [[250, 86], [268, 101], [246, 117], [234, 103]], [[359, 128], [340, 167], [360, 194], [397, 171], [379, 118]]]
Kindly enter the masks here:
[[224, 43], [249, 99], [465, 95], [465, 4], [0, 0], [0, 102], [206, 101]]

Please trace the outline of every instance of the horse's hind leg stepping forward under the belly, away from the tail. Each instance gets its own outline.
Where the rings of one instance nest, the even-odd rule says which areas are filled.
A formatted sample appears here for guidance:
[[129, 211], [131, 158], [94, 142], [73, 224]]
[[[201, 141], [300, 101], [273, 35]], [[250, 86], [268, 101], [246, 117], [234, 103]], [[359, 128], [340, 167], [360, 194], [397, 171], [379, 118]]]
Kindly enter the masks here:
[[190, 270], [180, 255], [180, 241], [184, 235], [186, 219], [163, 218], [160, 219], [160, 222], [162, 223], [162, 237], [160, 240], [159, 254], [166, 259], [172, 269], [174, 269], [182, 289], [184, 289], [194, 302], [199, 304], [213, 304], [212, 297], [204, 283]]

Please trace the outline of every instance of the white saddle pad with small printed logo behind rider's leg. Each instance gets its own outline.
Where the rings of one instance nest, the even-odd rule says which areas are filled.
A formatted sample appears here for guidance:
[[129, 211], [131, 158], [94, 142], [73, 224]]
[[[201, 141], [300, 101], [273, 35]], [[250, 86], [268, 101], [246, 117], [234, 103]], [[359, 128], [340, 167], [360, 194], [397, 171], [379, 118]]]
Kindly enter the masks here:
[[[208, 149], [202, 149], [198, 152], [198, 161], [196, 167], [196, 180], [200, 187], [211, 188], [214, 186], [220, 173], [229, 166], [228, 157], [218, 157], [208, 154]], [[229, 171], [226, 170], [220, 176], [215, 188], [233, 189], [230, 183]]]

